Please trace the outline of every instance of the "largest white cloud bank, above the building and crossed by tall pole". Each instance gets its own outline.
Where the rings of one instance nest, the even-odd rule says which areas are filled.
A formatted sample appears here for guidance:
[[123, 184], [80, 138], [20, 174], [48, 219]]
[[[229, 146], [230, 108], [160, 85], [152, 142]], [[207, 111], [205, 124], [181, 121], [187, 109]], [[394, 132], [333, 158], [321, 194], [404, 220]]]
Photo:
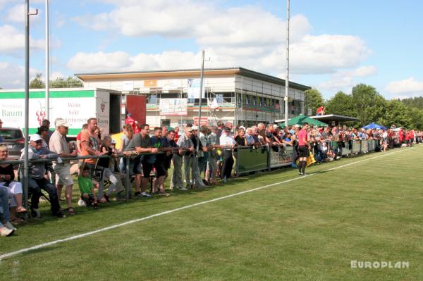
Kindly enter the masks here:
[[[159, 35], [170, 39], [195, 39], [198, 49], [207, 49], [207, 56], [212, 56], [209, 65], [240, 65], [269, 74], [281, 73], [286, 68], [286, 22], [260, 6], [223, 9], [216, 2], [192, 0], [103, 2], [115, 5], [114, 10], [73, 20], [93, 30], [112, 30], [130, 37]], [[304, 15], [292, 16], [292, 73], [336, 73], [339, 69], [357, 67], [371, 54], [360, 37], [311, 35], [311, 31], [312, 26]], [[159, 68], [164, 64], [175, 68], [189, 67], [185, 61], [177, 63], [173, 59], [171, 63], [159, 63], [159, 57], [166, 56], [166, 53], [137, 56], [149, 61], [142, 64], [149, 67], [156, 65]], [[90, 68], [102, 68], [102, 65], [94, 67], [93, 64], [90, 63]], [[366, 70], [360, 71], [364, 73]]]

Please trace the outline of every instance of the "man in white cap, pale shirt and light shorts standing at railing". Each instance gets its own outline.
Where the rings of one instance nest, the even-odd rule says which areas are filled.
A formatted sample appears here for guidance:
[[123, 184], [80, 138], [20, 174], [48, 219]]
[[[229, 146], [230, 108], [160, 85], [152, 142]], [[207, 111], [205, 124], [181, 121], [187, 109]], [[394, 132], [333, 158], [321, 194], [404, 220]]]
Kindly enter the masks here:
[[[72, 153], [69, 149], [69, 144], [66, 142], [66, 135], [68, 135], [69, 125], [63, 118], [56, 119], [56, 130], [50, 137], [49, 148], [51, 151], [59, 154], [60, 157], [75, 157], [77, 151], [74, 150]], [[72, 207], [72, 187], [73, 179], [71, 176], [71, 163], [69, 161], [62, 161], [61, 163], [53, 163], [54, 172], [56, 173], [56, 188], [57, 196], [60, 199], [61, 190], [63, 185], [66, 186], [65, 196], [66, 203], [68, 204], [68, 212], [71, 215], [75, 215], [75, 211]]]

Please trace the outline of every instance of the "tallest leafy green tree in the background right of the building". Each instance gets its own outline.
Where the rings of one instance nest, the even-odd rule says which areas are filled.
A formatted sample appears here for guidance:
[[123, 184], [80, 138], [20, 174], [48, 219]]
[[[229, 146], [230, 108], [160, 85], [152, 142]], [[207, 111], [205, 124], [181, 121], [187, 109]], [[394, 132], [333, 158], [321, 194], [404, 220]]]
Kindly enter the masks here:
[[384, 115], [386, 101], [374, 87], [364, 84], [357, 85], [353, 87], [352, 97], [360, 125], [376, 122]]

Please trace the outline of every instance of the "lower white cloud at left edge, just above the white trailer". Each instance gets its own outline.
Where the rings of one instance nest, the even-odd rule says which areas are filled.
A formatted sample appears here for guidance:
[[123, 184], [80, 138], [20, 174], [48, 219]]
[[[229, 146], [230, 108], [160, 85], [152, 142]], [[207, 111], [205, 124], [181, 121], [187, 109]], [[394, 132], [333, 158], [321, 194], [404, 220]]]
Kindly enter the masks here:
[[[3, 89], [21, 89], [25, 83], [25, 68], [13, 63], [0, 62], [0, 87]], [[30, 68], [30, 79], [42, 71]]]

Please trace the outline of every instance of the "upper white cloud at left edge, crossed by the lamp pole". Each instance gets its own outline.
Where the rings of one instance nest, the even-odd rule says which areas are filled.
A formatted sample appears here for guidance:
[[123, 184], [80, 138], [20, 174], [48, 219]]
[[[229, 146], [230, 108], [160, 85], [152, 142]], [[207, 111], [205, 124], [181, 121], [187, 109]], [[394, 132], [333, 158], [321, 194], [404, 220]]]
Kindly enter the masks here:
[[[20, 54], [25, 48], [25, 34], [11, 25], [0, 26], [0, 53]], [[44, 40], [30, 38], [31, 49], [44, 49]]]

